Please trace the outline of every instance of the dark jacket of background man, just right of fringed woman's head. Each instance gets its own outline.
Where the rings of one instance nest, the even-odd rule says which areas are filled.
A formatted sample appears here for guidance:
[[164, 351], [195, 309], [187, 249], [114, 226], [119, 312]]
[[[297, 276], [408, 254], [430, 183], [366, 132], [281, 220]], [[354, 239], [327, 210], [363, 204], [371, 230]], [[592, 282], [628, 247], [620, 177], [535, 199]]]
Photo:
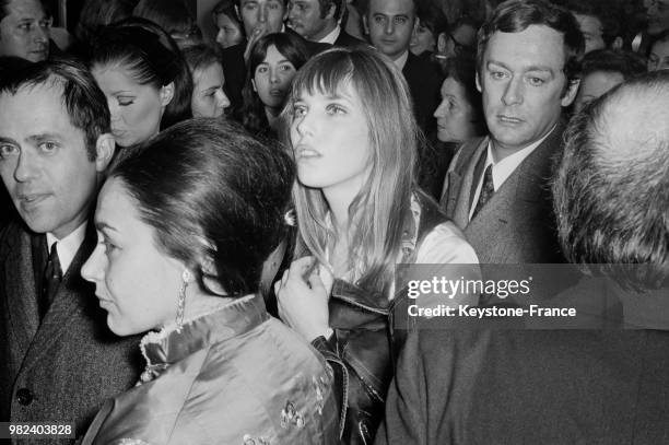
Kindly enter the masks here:
[[411, 51], [402, 68], [402, 74], [411, 91], [413, 114], [419, 127], [425, 134], [430, 134], [436, 129], [433, 114], [441, 102], [442, 77], [433, 63], [414, 56]]

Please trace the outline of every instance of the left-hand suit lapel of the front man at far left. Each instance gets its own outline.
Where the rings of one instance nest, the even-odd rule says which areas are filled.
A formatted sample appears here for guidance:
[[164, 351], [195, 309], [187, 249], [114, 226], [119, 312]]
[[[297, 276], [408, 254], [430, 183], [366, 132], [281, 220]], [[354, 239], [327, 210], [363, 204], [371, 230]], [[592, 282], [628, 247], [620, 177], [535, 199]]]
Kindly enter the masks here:
[[39, 327], [37, 290], [32, 253], [32, 237], [19, 225], [8, 229], [3, 265], [4, 313], [8, 314], [9, 341], [16, 366], [28, 350]]

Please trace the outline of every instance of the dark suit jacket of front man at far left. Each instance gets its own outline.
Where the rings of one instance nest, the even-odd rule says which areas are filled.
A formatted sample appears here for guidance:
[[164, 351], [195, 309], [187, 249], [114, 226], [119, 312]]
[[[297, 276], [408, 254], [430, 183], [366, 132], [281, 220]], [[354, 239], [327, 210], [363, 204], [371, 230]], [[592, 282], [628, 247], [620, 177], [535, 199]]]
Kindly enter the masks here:
[[16, 223], [0, 233], [0, 420], [74, 422], [83, 435], [105, 399], [137, 382], [139, 339], [109, 331], [93, 285], [80, 276], [96, 243], [92, 230], [40, 323], [32, 248], [38, 236]]

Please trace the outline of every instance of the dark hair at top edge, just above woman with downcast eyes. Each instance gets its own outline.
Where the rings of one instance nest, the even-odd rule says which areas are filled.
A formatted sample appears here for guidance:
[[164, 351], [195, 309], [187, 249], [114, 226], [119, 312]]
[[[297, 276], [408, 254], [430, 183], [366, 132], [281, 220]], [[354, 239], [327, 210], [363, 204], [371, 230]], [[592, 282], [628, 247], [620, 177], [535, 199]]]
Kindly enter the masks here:
[[177, 44], [202, 40], [202, 32], [183, 0], [139, 0], [132, 15], [154, 22]]

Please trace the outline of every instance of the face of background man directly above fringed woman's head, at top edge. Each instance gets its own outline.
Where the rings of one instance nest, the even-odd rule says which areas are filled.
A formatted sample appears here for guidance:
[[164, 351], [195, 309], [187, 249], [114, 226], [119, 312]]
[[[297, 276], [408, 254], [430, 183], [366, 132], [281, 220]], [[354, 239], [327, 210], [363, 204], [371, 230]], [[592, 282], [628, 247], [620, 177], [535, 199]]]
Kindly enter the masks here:
[[364, 23], [372, 45], [396, 60], [409, 50], [416, 24], [413, 0], [369, 0]]

